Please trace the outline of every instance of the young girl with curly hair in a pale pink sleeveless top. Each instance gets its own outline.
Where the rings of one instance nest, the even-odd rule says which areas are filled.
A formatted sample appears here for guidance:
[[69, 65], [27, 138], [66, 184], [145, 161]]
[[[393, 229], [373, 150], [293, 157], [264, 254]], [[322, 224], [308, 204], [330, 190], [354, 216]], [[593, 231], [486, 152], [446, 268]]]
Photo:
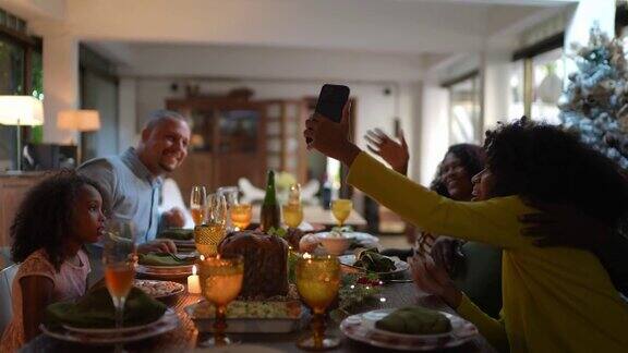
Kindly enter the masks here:
[[102, 192], [64, 171], [35, 186], [11, 226], [11, 254], [21, 263], [13, 280], [13, 319], [0, 351], [14, 352], [39, 333], [47, 305], [85, 294], [90, 271], [86, 243], [104, 232]]

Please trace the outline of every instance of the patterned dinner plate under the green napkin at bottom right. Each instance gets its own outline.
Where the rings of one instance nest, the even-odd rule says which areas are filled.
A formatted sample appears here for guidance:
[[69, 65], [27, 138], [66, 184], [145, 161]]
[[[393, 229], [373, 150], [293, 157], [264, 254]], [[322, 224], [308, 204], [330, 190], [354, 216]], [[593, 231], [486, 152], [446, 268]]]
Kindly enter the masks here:
[[[385, 309], [388, 313], [394, 309]], [[382, 311], [374, 311], [382, 312]], [[373, 317], [367, 312], [349, 316], [340, 322], [340, 331], [348, 338], [366, 344], [404, 351], [432, 351], [461, 345], [478, 334], [478, 328], [461, 317], [443, 313], [451, 322], [447, 334], [401, 334], [374, 328]], [[367, 316], [364, 318], [364, 316]]]

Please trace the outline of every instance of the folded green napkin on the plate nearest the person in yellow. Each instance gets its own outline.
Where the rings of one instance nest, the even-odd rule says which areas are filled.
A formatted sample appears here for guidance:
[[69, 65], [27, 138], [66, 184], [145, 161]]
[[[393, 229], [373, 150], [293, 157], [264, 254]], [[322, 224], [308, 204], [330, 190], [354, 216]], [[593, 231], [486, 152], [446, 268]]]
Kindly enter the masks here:
[[375, 327], [397, 333], [436, 334], [449, 332], [451, 322], [438, 312], [421, 306], [409, 306], [390, 313], [375, 322]]

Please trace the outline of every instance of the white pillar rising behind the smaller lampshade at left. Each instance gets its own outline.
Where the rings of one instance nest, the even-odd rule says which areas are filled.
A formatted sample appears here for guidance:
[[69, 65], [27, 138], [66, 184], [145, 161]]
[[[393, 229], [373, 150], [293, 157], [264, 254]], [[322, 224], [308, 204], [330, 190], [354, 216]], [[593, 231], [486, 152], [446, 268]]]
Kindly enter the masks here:
[[69, 144], [77, 134], [57, 129], [57, 113], [78, 108], [78, 40], [44, 36], [44, 142]]

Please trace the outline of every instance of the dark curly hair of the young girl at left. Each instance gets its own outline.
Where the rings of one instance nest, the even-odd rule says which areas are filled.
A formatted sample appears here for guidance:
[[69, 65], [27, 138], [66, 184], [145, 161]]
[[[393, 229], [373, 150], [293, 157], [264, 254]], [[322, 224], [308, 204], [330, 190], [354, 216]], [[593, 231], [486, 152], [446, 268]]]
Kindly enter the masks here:
[[[35, 251], [44, 248], [59, 271], [63, 263], [64, 239], [72, 229], [74, 203], [85, 185], [94, 186], [105, 195], [95, 181], [71, 170], [45, 179], [28, 192], [10, 229], [13, 261], [22, 263]], [[107, 206], [102, 205], [102, 209], [107, 210]]]

